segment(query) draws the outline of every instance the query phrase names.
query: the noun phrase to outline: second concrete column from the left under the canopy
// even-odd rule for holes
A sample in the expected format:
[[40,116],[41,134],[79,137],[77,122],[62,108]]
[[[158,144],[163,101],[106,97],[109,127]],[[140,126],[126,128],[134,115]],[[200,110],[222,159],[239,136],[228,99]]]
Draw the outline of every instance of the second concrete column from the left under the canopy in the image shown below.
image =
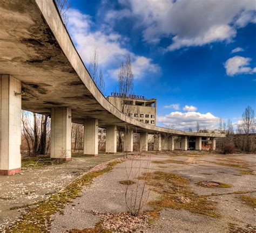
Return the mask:
[[51,158],[71,160],[71,109],[51,109]]

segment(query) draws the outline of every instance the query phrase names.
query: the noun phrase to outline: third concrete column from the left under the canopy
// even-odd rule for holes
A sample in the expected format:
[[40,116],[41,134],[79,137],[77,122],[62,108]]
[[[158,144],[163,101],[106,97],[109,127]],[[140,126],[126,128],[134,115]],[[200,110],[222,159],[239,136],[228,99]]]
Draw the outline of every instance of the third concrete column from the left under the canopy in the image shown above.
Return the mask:
[[84,154],[98,156],[98,119],[84,121]]

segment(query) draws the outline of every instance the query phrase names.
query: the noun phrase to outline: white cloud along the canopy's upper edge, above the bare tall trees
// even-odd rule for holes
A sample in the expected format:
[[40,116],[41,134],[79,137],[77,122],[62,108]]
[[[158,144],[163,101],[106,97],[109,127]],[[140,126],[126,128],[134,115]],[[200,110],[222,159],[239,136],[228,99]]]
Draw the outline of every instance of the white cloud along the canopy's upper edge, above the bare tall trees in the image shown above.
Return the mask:
[[[140,78],[149,73],[159,71],[159,66],[152,59],[139,56],[125,48],[124,43],[128,39],[116,32],[104,30],[92,30],[91,17],[78,10],[70,9],[67,13],[69,18],[68,29],[75,41],[77,50],[82,59],[89,63],[94,48],[98,51],[99,65],[104,68],[119,67],[121,61],[125,61],[130,55],[133,65],[134,78]],[[118,69],[117,69],[118,70]],[[115,75],[117,70],[109,70],[109,74]]]

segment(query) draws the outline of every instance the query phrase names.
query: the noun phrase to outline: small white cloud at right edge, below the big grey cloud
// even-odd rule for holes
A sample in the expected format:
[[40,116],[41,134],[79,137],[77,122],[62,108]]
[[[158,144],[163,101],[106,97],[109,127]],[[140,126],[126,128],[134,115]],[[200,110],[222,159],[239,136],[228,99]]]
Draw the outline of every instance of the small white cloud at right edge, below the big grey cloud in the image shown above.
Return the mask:
[[228,59],[224,63],[226,68],[226,73],[229,76],[234,76],[236,74],[252,74],[256,73],[256,67],[251,68],[250,65],[251,58],[245,58],[241,56],[235,56]]

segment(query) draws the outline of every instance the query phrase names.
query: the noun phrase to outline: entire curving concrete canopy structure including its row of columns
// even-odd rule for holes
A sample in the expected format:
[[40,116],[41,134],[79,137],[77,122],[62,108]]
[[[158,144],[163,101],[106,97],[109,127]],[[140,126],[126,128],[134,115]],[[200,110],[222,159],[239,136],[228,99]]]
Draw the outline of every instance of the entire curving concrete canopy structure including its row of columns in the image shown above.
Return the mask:
[[[100,93],[66,30],[53,0],[0,2],[0,174],[21,169],[21,109],[51,115],[51,158],[71,159],[71,122],[84,124],[84,154],[98,154],[98,126],[106,128],[106,152],[116,152],[116,130],[125,129],[125,145],[132,151],[132,133],[174,136],[224,135],[186,132],[148,125],[116,109]],[[21,95],[24,91],[24,95]],[[127,130],[128,129],[128,130]],[[164,137],[163,137],[164,138]],[[157,150],[161,150],[161,139]],[[147,150],[147,146],[143,147]],[[214,146],[213,146],[214,149]]]

